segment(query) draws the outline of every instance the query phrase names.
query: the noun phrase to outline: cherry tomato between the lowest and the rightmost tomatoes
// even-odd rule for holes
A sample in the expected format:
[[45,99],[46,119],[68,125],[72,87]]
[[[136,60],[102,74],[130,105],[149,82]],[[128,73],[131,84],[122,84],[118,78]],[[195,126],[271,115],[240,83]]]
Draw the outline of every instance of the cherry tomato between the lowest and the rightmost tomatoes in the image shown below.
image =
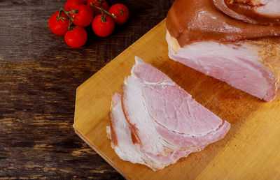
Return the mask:
[[97,15],[92,22],[92,30],[97,36],[106,37],[113,33],[115,23],[109,15]]

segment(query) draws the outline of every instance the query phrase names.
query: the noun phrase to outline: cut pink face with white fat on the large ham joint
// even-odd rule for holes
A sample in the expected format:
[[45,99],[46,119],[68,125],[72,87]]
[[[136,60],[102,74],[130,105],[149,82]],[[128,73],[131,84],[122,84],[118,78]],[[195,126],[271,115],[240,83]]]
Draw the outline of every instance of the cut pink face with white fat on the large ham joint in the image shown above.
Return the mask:
[[167,31],[169,57],[174,61],[227,82],[260,99],[273,100],[276,93],[274,74],[258,57],[258,50],[246,43],[197,42],[184,47],[174,45]]

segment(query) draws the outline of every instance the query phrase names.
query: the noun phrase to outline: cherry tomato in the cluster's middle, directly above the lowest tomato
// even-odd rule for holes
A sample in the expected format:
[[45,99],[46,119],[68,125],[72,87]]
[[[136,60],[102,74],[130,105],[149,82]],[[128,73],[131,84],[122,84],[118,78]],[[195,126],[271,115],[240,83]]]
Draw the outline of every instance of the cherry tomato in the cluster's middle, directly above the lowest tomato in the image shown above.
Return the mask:
[[79,27],[87,27],[92,24],[94,16],[92,8],[82,4],[76,7],[75,10],[78,10],[78,13],[71,14],[71,17],[73,18],[73,24]]

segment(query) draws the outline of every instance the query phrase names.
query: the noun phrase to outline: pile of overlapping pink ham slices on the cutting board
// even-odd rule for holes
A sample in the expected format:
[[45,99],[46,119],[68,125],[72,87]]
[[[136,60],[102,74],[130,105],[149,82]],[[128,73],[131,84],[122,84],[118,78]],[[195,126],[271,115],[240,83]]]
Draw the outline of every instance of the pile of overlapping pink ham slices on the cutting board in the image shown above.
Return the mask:
[[107,133],[118,156],[160,170],[221,140],[230,123],[197,103],[167,75],[136,57]]

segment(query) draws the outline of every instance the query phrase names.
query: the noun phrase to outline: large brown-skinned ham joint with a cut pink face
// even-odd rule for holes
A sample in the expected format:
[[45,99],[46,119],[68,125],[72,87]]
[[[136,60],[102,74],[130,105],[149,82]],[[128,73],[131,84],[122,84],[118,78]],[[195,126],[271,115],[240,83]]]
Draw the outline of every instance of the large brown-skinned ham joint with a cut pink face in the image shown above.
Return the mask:
[[169,57],[270,101],[280,87],[279,22],[279,0],[176,0]]

